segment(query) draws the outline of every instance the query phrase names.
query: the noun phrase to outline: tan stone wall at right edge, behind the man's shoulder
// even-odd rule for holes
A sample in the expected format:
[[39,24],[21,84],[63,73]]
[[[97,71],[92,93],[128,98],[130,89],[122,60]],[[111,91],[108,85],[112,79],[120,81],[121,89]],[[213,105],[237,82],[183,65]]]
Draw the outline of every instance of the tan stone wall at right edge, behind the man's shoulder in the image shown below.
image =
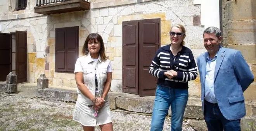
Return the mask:
[[254,83],[244,92],[256,100],[256,0],[222,1],[223,45],[242,52],[254,74]]

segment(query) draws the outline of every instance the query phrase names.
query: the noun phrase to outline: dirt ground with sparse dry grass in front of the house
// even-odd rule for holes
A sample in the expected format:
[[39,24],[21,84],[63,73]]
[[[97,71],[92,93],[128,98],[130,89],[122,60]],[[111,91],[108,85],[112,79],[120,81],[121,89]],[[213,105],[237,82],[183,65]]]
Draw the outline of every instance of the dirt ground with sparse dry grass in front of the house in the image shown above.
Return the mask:
[[[0,131],[81,131],[73,121],[74,104],[0,92]],[[151,116],[112,110],[114,131],[149,131]],[[194,131],[184,121],[183,131]],[[95,131],[100,131],[99,127]],[[166,118],[163,131],[170,131]]]

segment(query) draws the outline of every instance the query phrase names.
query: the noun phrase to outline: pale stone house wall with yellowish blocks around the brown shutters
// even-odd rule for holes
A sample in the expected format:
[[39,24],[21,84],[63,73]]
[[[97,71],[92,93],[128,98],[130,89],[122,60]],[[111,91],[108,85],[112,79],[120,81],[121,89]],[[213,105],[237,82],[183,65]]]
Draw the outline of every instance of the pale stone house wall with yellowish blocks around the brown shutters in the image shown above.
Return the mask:
[[[168,32],[171,25],[185,25],[187,30],[185,46],[192,50],[195,59],[206,51],[202,40],[204,27],[200,24],[200,5],[194,5],[193,0],[144,1],[149,2],[137,3],[136,0],[130,4],[103,8],[96,8],[97,6],[94,4],[93,8],[88,11],[54,15],[33,13],[33,9],[30,7],[33,7],[35,3],[31,2],[26,10],[16,15],[16,18],[19,16],[19,19],[11,20],[9,19],[10,12],[4,13],[0,24],[3,27],[2,32],[5,33],[15,30],[27,30],[28,32],[28,82],[34,83],[40,74],[45,74],[49,78],[49,84],[57,86],[76,87],[76,83],[74,74],[55,72],[55,29],[80,27],[80,56],[86,36],[93,32],[99,33],[103,37],[107,56],[112,61],[111,90],[121,92],[123,21],[161,18],[161,46],[170,44]],[[27,12],[29,13],[27,14]],[[28,17],[21,17],[25,16],[24,14]],[[190,96],[199,97],[201,91],[199,77],[189,84]]]

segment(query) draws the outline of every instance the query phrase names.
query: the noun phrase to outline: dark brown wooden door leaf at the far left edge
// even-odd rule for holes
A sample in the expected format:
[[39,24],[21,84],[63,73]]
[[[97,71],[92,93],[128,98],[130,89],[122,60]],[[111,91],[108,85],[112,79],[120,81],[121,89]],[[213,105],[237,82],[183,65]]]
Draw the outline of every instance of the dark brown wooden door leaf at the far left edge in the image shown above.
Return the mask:
[[12,35],[0,33],[0,81],[6,81],[6,76],[12,72]]

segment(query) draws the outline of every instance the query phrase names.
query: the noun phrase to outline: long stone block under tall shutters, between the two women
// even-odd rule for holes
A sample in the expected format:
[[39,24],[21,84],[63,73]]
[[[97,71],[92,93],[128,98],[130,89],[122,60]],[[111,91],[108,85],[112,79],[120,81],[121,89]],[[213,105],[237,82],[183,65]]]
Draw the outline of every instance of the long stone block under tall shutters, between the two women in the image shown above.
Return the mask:
[[116,98],[116,106],[137,113],[152,113],[155,96],[140,97],[134,94],[120,93]]

